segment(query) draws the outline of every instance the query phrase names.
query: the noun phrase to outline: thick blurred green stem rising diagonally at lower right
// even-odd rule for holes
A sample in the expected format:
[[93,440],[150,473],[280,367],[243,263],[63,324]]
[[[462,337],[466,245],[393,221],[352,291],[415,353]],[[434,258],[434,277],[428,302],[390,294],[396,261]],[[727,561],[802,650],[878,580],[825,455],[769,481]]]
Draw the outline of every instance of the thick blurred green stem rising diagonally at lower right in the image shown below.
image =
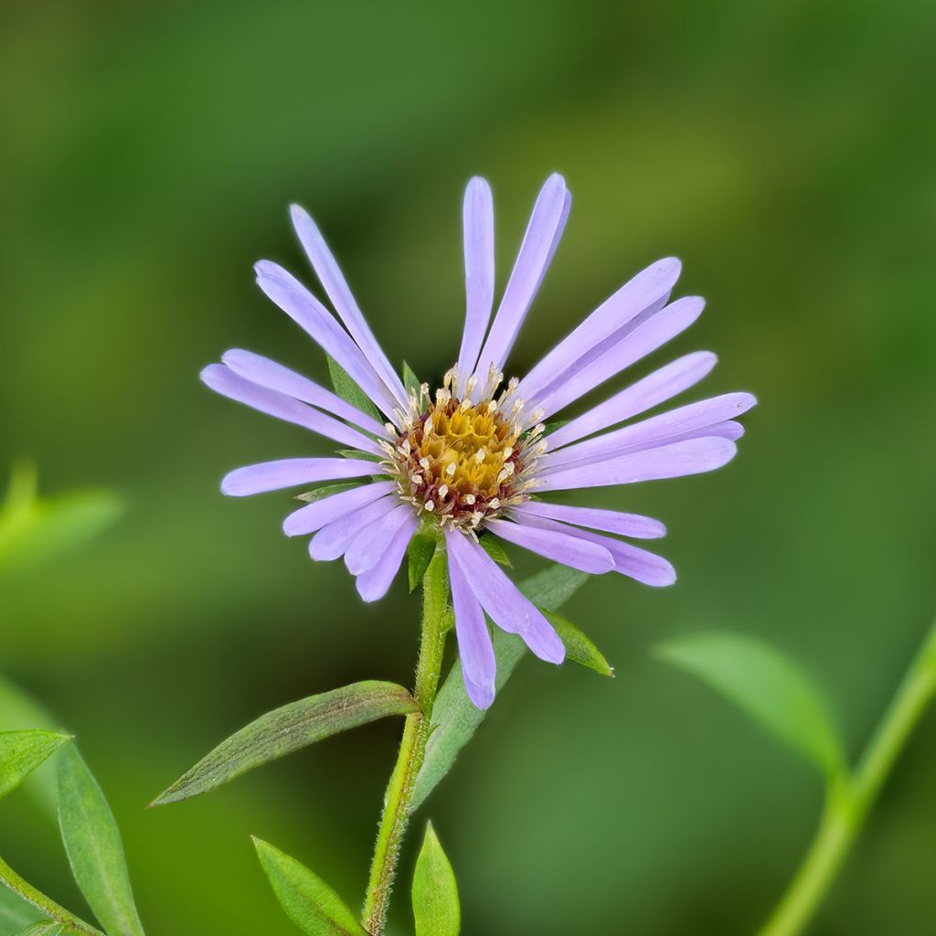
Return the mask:
[[854,774],[830,784],[822,821],[810,850],[758,936],[797,936],[808,926],[933,695],[936,695],[936,624],[900,683]]

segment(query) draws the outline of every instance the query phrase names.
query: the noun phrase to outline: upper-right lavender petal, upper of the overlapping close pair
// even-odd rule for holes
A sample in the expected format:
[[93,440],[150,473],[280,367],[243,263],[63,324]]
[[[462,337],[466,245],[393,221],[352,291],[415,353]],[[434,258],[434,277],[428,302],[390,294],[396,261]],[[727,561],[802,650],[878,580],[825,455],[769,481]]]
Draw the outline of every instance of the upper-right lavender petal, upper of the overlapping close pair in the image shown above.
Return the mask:
[[[613,335],[655,303],[668,298],[680,278],[681,264],[676,257],[657,260],[602,302],[579,326],[566,335],[548,355],[540,360],[519,384],[519,399],[534,400],[558,374],[574,367],[578,359]],[[662,306],[661,306],[662,308]]]

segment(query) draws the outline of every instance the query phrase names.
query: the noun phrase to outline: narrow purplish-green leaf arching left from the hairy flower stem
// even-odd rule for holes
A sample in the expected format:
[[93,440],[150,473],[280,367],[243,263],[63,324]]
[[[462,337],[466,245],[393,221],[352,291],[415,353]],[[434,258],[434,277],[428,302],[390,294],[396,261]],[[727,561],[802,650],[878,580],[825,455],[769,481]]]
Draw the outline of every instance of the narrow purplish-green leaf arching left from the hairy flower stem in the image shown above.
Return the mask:
[[378,718],[417,710],[413,696],[394,682],[355,682],[343,689],[312,695],[261,715],[241,728],[174,782],[153,805],[197,797],[315,741]]

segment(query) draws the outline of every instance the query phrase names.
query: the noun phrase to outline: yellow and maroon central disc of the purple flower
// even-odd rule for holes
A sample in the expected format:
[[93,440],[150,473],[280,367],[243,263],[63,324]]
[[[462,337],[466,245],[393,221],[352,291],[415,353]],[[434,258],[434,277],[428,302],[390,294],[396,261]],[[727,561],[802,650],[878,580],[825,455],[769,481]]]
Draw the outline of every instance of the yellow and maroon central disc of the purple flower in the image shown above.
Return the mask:
[[[495,378],[499,381],[500,374],[491,373],[491,385]],[[452,393],[458,383],[452,371],[433,396],[428,388],[420,393],[424,412],[411,401],[394,451],[403,499],[440,523],[471,530],[525,499],[528,447],[520,436],[522,403],[512,403],[505,414],[492,399],[496,385],[489,385],[490,393],[479,402],[459,400]]]

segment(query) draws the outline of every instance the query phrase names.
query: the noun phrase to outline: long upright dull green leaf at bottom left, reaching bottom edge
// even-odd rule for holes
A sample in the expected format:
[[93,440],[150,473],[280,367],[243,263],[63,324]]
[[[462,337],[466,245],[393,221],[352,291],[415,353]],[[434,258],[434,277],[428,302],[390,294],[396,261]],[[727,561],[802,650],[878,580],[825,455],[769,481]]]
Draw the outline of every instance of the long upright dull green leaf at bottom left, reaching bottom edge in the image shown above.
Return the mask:
[[81,893],[109,936],[143,936],[120,830],[74,745],[59,755],[58,775],[62,841]]

